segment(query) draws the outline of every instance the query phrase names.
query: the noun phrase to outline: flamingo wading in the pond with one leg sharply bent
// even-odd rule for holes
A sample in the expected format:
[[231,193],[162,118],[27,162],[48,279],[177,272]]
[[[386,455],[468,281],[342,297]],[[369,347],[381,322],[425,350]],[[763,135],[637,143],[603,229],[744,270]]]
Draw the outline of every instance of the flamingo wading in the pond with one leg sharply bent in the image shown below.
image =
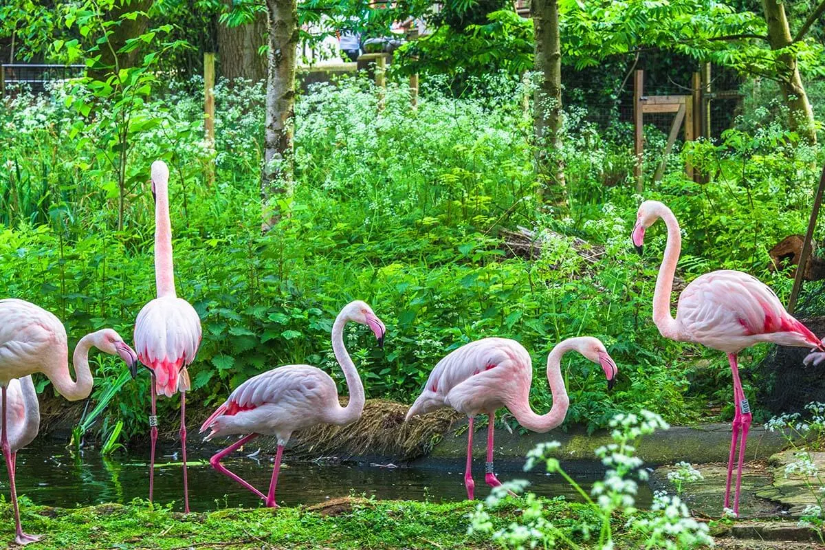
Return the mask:
[[[350,400],[347,407],[338,403],[335,382],[323,370],[309,364],[288,364],[257,374],[235,388],[229,399],[200,426],[200,433],[211,430],[205,441],[219,435],[247,434],[210,458],[212,468],[260,496],[269,508],[277,508],[275,490],[284,445],[295,430],[317,424],[347,425],[361,418],[364,411],[364,385],[344,347],[343,333],[347,322],[366,325],[384,346],[384,323],[372,308],[361,300],[348,303],[332,325],[332,351],[344,371]],[[220,461],[258,435],[274,435],[278,440],[275,468],[266,496]]]

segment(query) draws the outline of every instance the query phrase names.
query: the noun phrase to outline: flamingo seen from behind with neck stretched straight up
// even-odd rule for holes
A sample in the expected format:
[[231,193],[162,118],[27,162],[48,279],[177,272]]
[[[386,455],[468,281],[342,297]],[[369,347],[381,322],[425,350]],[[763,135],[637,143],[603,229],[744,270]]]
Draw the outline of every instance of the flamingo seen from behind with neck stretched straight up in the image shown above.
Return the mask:
[[[155,197],[155,284],[158,298],[147,303],[134,322],[134,346],[138,358],[152,373],[152,416],[149,416],[149,501],[154,487],[154,456],[158,441],[157,395],[172,397],[181,392],[181,458],[183,459],[183,503],[189,513],[189,484],[186,479],[186,392],[191,388],[189,366],[200,346],[200,317],[186,300],[175,294],[172,268],[172,223],[169,221],[169,169],[163,161],[152,163],[152,193]],[[137,366],[132,376],[137,374]]]

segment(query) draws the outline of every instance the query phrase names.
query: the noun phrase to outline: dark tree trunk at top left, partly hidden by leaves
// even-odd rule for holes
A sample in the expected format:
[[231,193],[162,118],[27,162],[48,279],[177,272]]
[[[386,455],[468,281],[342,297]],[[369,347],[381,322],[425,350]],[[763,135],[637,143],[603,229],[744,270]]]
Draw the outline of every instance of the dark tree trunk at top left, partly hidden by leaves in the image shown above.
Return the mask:
[[[149,18],[145,15],[152,7],[152,0],[120,0],[115,2],[112,9],[106,13],[106,19],[110,21],[120,21],[119,25],[110,27],[109,44],[100,45],[101,59],[95,66],[88,70],[88,75],[95,80],[106,80],[106,78],[121,68],[134,67],[139,59],[143,59],[146,52],[142,48],[135,48],[125,54],[118,54],[118,50],[126,45],[126,40],[137,38],[144,34],[149,24]],[[126,17],[121,19],[125,13],[139,12],[134,19]]]

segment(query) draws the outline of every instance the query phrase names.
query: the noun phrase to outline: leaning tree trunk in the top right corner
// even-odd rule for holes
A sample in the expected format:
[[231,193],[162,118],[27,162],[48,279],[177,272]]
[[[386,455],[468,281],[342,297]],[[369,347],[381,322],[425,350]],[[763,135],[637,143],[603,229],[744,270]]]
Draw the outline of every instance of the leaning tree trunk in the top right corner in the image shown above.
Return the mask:
[[[782,49],[792,44],[788,18],[785,16],[785,5],[777,0],[762,0],[765,9],[765,21],[768,26],[768,40],[771,49]],[[780,78],[780,88],[785,96],[785,104],[790,110],[788,125],[809,143],[817,143],[817,133],[814,126],[813,110],[808,103],[808,94],[802,78],[799,76],[799,65],[796,54],[785,52],[776,58],[776,73]]]

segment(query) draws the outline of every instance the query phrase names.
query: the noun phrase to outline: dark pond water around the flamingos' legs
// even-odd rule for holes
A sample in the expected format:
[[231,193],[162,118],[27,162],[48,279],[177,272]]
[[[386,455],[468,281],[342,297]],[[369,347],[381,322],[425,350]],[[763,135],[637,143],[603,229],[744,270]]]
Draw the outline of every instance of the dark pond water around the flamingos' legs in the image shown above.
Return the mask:
[[[271,479],[272,457],[265,454],[247,456],[257,449],[257,446],[249,446],[224,464],[266,493]],[[175,501],[174,508],[182,510],[181,465],[174,450],[158,449],[155,501]],[[257,506],[256,496],[210,467],[209,456],[205,450],[193,449],[189,453],[191,509],[206,511],[226,506]],[[603,477],[603,472],[592,463],[569,463],[565,468],[588,491],[592,482]],[[0,488],[6,494],[6,472],[5,468],[0,469],[3,470]],[[563,495],[571,500],[578,499],[561,477],[522,472],[521,463],[496,463],[496,471],[502,481],[527,479],[531,490],[541,496]],[[476,498],[489,493],[483,472],[483,457],[479,456],[474,461]],[[68,508],[103,502],[125,504],[136,497],[148,497],[148,450],[145,454],[121,452],[104,458],[94,449],[72,454],[63,444],[35,443],[17,455],[16,481],[18,494],[28,496],[38,505]],[[295,461],[290,460],[288,451],[285,453],[276,493],[279,504],[310,505],[337,496],[361,494],[375,495],[379,499],[462,501],[466,498],[464,461],[386,468],[370,462]],[[638,501],[643,506],[650,503],[651,493],[647,486],[640,487]]]

